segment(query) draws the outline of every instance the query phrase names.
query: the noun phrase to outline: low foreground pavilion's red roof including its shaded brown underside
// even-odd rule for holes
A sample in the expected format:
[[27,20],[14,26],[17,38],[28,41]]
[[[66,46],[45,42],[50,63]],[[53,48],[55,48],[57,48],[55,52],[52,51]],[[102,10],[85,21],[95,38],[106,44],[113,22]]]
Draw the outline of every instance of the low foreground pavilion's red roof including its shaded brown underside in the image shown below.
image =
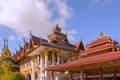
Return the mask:
[[83,70],[88,73],[89,73],[89,71],[92,71],[92,72],[94,71],[93,72],[93,74],[94,74],[100,70],[100,67],[108,68],[109,72],[104,71],[104,73],[113,72],[113,70],[111,70],[111,69],[114,69],[117,67],[119,69],[119,67],[120,67],[120,51],[109,52],[109,53],[105,53],[105,54],[101,54],[101,55],[81,58],[81,59],[78,59],[75,61],[48,67],[45,70],[61,71],[61,72],[64,72],[64,71],[80,72],[81,70]]

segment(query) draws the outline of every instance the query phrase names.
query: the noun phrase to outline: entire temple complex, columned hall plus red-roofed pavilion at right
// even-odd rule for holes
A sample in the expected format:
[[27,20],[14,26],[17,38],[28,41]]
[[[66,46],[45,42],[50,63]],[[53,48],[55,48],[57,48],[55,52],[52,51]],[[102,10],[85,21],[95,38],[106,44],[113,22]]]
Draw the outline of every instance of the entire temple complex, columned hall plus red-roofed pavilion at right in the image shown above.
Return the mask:
[[[82,39],[71,44],[56,24],[47,38],[30,32],[29,41],[24,40],[23,47],[19,46],[14,54],[14,63],[27,80],[120,79],[120,45],[108,35],[100,33],[86,46]],[[10,53],[2,52],[6,55]]]

